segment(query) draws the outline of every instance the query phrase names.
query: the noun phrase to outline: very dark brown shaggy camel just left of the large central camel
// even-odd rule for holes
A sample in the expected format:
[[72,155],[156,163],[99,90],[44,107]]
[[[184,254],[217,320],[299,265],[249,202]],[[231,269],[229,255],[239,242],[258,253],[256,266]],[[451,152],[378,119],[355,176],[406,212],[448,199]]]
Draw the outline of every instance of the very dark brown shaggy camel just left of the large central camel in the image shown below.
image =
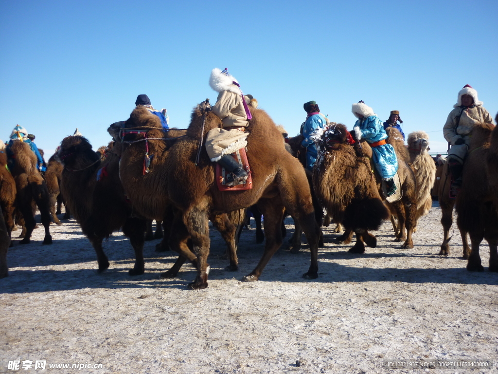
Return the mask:
[[119,178],[119,157],[111,152],[101,162],[102,156],[94,152],[92,145],[82,136],[64,138],[57,157],[64,166],[61,192],[95,249],[99,272],[109,267],[102,240],[123,229],[135,251],[135,264],[128,273],[143,274],[145,219],[131,216],[132,207],[126,201]]

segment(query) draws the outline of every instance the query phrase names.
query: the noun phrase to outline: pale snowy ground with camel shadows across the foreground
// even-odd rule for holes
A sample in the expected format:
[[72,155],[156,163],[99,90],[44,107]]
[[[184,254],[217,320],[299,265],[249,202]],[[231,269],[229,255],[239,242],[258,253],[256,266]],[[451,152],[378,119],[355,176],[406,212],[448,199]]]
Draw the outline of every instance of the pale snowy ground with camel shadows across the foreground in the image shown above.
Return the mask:
[[[237,272],[224,270],[225,244],[212,231],[209,287],[201,291],[186,289],[195,278],[191,266],[173,280],[159,279],[176,257],[154,252],[157,240],[145,243],[146,273],[130,277],[133,250],[116,234],[105,244],[111,266],[98,274],[95,252],[74,220],[51,225],[53,245],[41,244],[38,228],[31,244],[9,249],[9,277],[0,280],[0,373],[449,374],[469,369],[383,365],[467,359],[496,365],[498,274],[487,271],[487,243],[486,271],[468,272],[457,230],[451,256],[438,256],[440,218],[435,202],[411,250],[399,249],[386,222],[375,232],[377,247],[362,255],[331,244],[333,225],[324,228],[319,278],[312,281],[301,278],[310,261],[305,246],[298,254],[280,249],[258,282],[243,283],[263,251],[254,228],[242,233]],[[286,223],[290,234],[292,221]],[[14,360],[19,371],[8,369]],[[23,370],[26,361],[33,367]],[[35,370],[35,361],[46,361],[46,369]],[[89,369],[94,364],[102,368]]]

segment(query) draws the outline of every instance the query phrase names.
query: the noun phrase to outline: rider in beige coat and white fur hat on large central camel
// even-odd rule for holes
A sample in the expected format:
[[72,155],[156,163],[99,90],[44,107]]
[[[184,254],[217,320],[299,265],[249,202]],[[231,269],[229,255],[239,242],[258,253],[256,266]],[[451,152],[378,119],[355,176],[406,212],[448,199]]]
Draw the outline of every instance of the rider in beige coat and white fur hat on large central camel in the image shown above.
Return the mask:
[[223,129],[215,128],[206,136],[206,151],[211,161],[219,163],[230,174],[227,183],[243,184],[248,178],[247,172],[230,156],[247,146],[245,132],[252,118],[239,82],[229,74],[228,69],[214,68],[211,71],[209,85],[219,93],[216,104],[211,107],[213,113],[221,118]]

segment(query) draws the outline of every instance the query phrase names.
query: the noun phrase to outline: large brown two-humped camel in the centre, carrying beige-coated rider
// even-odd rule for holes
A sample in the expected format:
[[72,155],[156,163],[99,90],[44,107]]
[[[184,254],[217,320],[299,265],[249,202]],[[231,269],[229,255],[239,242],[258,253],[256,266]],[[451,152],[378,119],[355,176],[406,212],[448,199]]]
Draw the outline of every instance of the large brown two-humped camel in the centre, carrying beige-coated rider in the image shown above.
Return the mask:
[[[150,162],[150,173],[143,173],[146,155],[144,142],[130,144],[124,149],[120,176],[133,205],[139,211],[148,212],[148,218],[160,218],[162,212],[157,209],[158,206],[172,204],[177,209],[172,232],[178,237],[190,237],[192,240],[197,277],[189,285],[190,289],[204,289],[208,286],[208,217],[213,213],[244,209],[255,203],[265,219],[265,252],[258,265],[244,280],[258,280],[264,266],[282,244],[280,226],[284,208],[300,221],[310,243],[311,266],[304,277],[318,277],[320,228],[314,220],[311,193],[305,182],[304,170],[298,160],[285,150],[282,135],[266,112],[261,109],[251,109],[251,112],[252,119],[247,128],[247,156],[253,180],[252,188],[248,190],[218,190],[215,164],[209,160],[201,141],[209,130],[222,128],[223,124],[210,111],[208,101],[194,109],[187,135],[178,139],[171,148],[166,150],[164,142],[148,141],[148,153],[154,154]],[[124,130],[149,129],[147,138],[162,137],[160,123],[155,118],[145,108],[138,106],[125,122]],[[130,142],[145,140],[141,134],[128,136]],[[124,138],[127,139],[126,136]],[[185,231],[181,232],[180,227],[185,227]],[[235,232],[231,240],[235,242]],[[179,240],[178,243],[182,241]],[[189,258],[191,255],[186,245],[172,249],[180,253],[180,258]]]

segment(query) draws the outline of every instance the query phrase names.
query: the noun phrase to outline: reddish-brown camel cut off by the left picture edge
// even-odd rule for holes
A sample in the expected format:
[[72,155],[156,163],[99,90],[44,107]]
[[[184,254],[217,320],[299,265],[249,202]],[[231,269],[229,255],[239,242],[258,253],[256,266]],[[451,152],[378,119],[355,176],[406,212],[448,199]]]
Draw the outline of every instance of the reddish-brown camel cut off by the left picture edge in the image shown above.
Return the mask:
[[0,206],[9,238],[14,228],[15,194],[15,181],[7,169],[5,144],[0,140]]

